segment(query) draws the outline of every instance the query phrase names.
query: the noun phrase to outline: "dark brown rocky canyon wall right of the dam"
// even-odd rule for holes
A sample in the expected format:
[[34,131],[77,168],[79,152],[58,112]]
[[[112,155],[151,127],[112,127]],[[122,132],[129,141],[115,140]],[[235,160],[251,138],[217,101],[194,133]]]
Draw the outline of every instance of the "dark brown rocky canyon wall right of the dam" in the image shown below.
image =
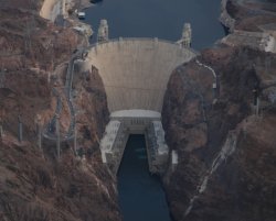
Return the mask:
[[220,45],[172,74],[162,118],[179,154],[164,176],[176,220],[275,220],[275,54]]

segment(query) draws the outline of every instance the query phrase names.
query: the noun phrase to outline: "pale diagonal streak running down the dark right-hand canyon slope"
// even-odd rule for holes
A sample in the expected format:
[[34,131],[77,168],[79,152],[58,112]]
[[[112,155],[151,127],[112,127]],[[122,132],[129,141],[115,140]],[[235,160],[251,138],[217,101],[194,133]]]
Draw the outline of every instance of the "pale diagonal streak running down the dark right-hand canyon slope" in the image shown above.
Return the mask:
[[198,199],[199,196],[205,191],[208,183],[209,183],[209,178],[211,177],[211,175],[221,166],[221,164],[223,162],[226,162],[229,156],[231,156],[235,152],[236,141],[237,141],[236,133],[234,131],[230,131],[227,139],[226,139],[224,145],[222,146],[221,152],[213,159],[211,169],[206,172],[201,185],[198,187],[198,192],[191,198],[189,207],[184,212],[184,217],[187,217],[190,213],[190,211],[192,210],[194,200]]

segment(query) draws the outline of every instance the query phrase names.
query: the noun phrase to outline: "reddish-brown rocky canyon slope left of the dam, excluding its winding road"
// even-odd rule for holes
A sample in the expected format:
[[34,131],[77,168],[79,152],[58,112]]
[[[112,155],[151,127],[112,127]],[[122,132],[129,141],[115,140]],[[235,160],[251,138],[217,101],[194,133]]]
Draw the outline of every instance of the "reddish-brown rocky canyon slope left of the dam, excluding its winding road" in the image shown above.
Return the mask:
[[[33,1],[31,1],[33,2]],[[67,130],[64,97],[66,62],[82,36],[40,19],[24,4],[0,11],[0,220],[120,220],[114,178],[102,165],[98,140],[108,120],[106,96],[97,70],[77,70],[73,81],[77,156],[73,140],[43,139],[38,146],[38,115],[43,133],[61,92],[61,128]],[[13,8],[11,8],[13,5]],[[36,4],[35,4],[36,5]],[[33,11],[34,10],[34,11]],[[13,14],[17,14],[15,18]],[[63,93],[62,93],[63,92]],[[23,141],[18,141],[18,117]]]

